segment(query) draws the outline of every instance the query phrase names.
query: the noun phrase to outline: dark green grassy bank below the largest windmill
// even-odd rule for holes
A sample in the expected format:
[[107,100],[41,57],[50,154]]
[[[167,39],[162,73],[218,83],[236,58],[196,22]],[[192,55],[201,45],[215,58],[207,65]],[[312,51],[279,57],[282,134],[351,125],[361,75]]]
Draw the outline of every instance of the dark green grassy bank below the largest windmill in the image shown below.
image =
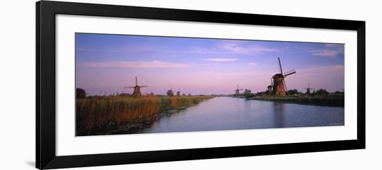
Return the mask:
[[283,103],[298,103],[304,105],[324,105],[344,107],[344,95],[303,95],[303,96],[255,96],[249,100],[276,101]]

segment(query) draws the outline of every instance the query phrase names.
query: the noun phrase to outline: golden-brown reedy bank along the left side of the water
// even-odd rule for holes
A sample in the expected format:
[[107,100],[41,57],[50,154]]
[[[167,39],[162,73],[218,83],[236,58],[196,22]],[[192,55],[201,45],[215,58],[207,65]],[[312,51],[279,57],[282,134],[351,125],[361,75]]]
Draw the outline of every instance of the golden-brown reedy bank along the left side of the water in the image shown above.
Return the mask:
[[122,124],[155,119],[160,113],[178,110],[210,96],[88,96],[76,99],[76,135],[105,133],[108,128]]

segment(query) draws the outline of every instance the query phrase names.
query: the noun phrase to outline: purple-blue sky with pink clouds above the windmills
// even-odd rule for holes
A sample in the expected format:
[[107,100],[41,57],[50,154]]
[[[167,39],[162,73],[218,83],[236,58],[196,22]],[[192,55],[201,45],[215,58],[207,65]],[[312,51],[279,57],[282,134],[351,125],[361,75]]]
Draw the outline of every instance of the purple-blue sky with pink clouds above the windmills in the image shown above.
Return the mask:
[[194,37],[76,33],[76,87],[89,95],[133,93],[126,86],[147,85],[143,94],[233,94],[236,85],[265,91],[278,74],[287,90],[344,89],[344,44],[227,40]]

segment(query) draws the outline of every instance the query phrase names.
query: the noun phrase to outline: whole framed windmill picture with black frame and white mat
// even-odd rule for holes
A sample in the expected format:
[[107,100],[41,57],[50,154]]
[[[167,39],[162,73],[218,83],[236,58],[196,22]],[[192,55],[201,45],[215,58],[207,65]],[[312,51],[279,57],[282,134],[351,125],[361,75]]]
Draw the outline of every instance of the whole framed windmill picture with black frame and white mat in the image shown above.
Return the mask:
[[365,148],[365,22],[36,3],[36,167]]

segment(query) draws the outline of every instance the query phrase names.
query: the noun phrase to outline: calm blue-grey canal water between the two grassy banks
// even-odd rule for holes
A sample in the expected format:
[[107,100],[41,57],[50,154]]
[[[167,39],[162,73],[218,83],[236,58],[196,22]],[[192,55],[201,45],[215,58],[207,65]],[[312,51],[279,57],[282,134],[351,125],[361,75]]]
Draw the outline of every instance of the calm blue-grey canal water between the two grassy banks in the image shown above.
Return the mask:
[[344,125],[344,108],[217,97],[154,121],[137,133]]

